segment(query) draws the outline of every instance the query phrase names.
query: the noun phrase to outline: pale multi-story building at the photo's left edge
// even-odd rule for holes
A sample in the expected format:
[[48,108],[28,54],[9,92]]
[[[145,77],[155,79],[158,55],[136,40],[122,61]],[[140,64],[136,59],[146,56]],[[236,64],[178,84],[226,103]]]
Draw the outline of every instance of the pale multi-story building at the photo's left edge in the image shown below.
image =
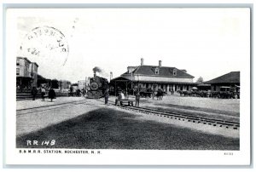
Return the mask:
[[37,87],[38,64],[31,62],[26,57],[16,59],[16,87],[20,89],[30,89]]

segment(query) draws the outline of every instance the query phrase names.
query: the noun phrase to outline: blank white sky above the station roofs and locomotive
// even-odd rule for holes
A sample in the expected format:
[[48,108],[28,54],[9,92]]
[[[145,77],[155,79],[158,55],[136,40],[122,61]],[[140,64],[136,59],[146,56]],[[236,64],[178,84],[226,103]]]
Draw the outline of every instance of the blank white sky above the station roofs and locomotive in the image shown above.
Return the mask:
[[[95,66],[102,77],[119,77],[141,58],[144,65],[162,60],[162,66],[187,70],[194,82],[207,81],[241,71],[249,61],[249,14],[235,8],[20,9],[17,56],[37,62],[43,77],[72,83],[93,76]],[[55,28],[55,35],[45,28]]]

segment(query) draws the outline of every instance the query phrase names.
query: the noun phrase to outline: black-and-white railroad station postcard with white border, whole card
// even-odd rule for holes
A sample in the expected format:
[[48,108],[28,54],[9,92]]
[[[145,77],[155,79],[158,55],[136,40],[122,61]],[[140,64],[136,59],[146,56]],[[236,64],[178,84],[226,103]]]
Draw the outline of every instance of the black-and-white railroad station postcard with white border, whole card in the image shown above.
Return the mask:
[[7,9],[6,164],[249,165],[251,9]]

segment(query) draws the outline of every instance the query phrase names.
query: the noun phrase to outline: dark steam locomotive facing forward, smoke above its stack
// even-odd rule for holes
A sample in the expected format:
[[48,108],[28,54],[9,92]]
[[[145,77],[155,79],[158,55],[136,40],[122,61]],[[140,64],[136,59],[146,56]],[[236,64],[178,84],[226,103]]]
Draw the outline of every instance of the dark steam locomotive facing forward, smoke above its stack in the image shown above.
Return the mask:
[[108,79],[104,77],[98,77],[96,74],[94,74],[94,77],[90,78],[90,89],[87,91],[87,98],[102,98],[106,89],[108,89]]

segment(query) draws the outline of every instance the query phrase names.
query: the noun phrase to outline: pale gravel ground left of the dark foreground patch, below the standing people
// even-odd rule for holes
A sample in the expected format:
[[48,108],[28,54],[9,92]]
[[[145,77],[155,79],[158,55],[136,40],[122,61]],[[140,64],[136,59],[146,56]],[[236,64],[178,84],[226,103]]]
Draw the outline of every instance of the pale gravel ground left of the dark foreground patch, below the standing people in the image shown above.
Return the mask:
[[[55,101],[53,104],[50,105],[57,105],[60,102],[70,102],[71,100],[77,101],[78,99],[63,99],[59,102]],[[90,101],[87,101],[87,103],[90,103]],[[46,107],[17,112],[16,135],[26,135],[38,129],[44,129],[45,127],[56,123],[61,123],[71,118],[77,118],[84,112],[90,112],[98,108],[98,106],[88,106],[85,104],[71,106],[65,105],[66,107],[47,106],[48,102],[45,103],[41,102],[40,100],[38,100],[38,102],[27,101],[27,104],[25,104],[25,101],[22,101],[22,104],[26,105],[23,107],[33,107],[38,106],[38,104],[40,104],[41,106],[44,105]]]

